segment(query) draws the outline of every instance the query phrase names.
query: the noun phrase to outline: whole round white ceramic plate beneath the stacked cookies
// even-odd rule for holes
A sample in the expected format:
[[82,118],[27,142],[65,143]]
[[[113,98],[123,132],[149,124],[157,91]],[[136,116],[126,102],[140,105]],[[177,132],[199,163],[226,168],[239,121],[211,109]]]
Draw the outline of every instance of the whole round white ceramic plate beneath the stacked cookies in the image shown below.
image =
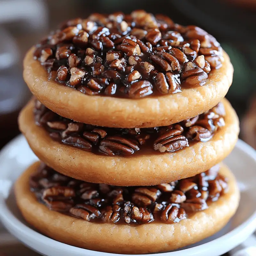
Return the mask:
[[[0,219],[12,235],[33,250],[47,256],[114,256],[57,242],[43,236],[23,220],[17,209],[12,184],[29,164],[37,160],[23,136],[12,140],[0,153]],[[236,215],[220,232],[203,241],[161,256],[219,256],[230,251],[256,229],[256,152],[243,141],[224,161],[236,175],[241,202]]]

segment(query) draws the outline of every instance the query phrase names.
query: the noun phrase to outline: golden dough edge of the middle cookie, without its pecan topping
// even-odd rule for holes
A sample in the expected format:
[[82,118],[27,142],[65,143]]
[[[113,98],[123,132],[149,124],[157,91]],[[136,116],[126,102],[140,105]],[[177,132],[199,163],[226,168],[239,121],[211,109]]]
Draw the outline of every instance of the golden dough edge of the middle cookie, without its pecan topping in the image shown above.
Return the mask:
[[226,125],[211,140],[172,153],[100,156],[63,145],[35,124],[33,101],[21,111],[19,125],[34,153],[57,172],[93,183],[149,186],[194,176],[228,156],[236,144],[239,122],[228,100],[222,102],[227,113]]

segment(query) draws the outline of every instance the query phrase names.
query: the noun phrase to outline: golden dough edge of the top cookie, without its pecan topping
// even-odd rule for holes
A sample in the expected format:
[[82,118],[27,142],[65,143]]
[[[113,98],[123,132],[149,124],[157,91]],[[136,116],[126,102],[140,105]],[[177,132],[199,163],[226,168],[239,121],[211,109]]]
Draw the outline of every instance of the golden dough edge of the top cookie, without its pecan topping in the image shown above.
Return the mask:
[[143,99],[90,96],[48,80],[47,71],[34,60],[33,51],[31,48],[24,59],[23,77],[36,98],[60,116],[106,127],[165,126],[197,116],[225,97],[233,78],[233,66],[223,51],[222,67],[209,73],[204,86]]

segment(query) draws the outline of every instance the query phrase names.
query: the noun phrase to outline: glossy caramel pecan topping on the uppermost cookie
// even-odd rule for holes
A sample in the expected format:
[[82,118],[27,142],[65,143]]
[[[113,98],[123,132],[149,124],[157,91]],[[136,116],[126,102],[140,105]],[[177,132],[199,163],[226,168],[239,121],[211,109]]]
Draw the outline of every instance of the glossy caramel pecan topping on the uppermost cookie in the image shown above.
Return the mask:
[[222,66],[216,39],[142,10],[69,20],[36,45],[49,78],[88,95],[141,98],[206,83]]

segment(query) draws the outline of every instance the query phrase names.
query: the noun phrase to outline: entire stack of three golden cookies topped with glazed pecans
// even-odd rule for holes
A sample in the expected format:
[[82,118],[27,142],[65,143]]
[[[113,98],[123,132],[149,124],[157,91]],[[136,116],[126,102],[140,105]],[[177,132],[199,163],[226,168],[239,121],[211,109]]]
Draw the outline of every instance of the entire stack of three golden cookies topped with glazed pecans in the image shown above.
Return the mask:
[[221,161],[239,122],[216,39],[145,11],[70,20],[28,51],[20,130],[42,161],[16,183],[24,218],[102,252],[174,250],[226,225],[239,202]]

